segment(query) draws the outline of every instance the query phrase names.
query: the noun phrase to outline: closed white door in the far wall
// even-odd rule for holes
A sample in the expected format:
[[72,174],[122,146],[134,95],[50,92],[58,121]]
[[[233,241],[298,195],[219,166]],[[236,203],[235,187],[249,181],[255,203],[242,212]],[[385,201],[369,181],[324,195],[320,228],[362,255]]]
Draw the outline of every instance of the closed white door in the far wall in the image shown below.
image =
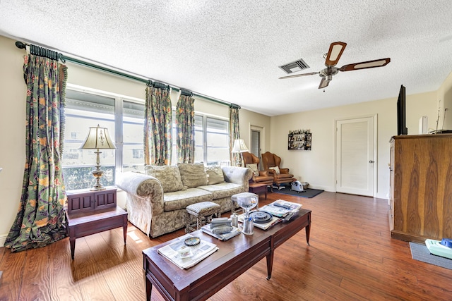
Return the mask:
[[374,196],[376,116],[336,121],[336,191]]

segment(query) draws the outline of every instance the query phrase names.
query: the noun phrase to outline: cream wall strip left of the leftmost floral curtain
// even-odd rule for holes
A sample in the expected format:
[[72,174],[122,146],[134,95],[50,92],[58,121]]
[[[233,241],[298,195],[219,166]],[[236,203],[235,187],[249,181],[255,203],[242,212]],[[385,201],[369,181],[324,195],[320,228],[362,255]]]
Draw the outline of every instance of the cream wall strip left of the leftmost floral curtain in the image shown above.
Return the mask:
[[0,247],[16,218],[25,166],[24,53],[14,42],[0,36]]

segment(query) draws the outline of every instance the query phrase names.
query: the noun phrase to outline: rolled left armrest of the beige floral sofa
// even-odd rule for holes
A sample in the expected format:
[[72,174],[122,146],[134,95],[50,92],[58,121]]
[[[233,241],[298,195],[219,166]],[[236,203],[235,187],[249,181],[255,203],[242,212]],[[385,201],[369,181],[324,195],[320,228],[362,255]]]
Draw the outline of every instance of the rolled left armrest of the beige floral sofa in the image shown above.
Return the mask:
[[157,178],[144,173],[127,171],[118,177],[117,186],[127,192],[132,198],[148,199],[152,207],[150,215],[162,214],[163,188]]

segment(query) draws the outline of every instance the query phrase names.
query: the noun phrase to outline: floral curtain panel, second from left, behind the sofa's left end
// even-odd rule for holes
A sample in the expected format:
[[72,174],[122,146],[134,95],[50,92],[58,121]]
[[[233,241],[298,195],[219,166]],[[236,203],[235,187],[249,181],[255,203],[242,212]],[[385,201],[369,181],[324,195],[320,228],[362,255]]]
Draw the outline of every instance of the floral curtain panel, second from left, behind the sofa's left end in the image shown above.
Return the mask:
[[146,87],[144,114],[145,164],[169,165],[172,147],[172,107],[169,91]]

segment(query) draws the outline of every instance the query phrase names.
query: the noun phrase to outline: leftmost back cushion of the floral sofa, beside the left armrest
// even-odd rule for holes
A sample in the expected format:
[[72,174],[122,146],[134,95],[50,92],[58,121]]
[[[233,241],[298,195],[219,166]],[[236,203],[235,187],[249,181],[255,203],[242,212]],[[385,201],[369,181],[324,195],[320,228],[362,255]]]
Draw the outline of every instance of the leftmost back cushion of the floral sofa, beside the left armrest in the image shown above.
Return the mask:
[[184,189],[181,174],[179,173],[179,168],[177,168],[177,166],[147,165],[144,170],[148,176],[153,176],[160,180],[163,192],[173,192]]

